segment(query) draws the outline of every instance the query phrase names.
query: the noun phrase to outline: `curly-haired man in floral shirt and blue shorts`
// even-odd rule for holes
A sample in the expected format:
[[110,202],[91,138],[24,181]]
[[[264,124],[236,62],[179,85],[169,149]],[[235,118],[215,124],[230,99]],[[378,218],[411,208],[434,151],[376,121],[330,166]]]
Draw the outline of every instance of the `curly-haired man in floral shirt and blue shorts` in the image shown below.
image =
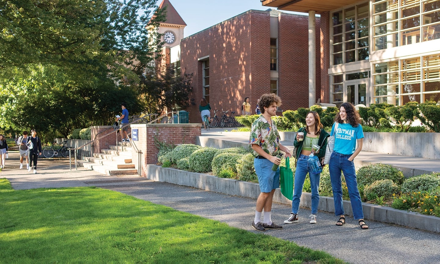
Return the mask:
[[[260,195],[257,199],[255,219],[252,227],[257,231],[266,229],[282,229],[271,220],[272,198],[276,188],[279,188],[279,168],[272,170],[274,164],[279,165],[278,158],[280,151],[286,152],[291,157],[289,149],[279,143],[279,133],[271,117],[276,116],[277,107],[281,105],[281,98],[276,94],[263,94],[260,98],[261,115],[252,124],[249,145],[253,150],[253,165],[260,184]],[[260,218],[264,210],[264,220]]]

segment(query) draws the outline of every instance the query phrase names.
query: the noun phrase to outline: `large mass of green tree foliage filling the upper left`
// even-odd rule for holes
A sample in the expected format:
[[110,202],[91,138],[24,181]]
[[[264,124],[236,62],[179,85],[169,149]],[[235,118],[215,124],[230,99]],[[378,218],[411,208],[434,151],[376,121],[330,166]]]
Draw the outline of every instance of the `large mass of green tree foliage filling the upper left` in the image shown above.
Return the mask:
[[1,1],[0,127],[66,137],[109,125],[122,102],[131,114],[145,110],[142,98],[165,102],[156,112],[185,105],[191,78],[146,74],[163,45],[154,29],[165,12],[156,0]]

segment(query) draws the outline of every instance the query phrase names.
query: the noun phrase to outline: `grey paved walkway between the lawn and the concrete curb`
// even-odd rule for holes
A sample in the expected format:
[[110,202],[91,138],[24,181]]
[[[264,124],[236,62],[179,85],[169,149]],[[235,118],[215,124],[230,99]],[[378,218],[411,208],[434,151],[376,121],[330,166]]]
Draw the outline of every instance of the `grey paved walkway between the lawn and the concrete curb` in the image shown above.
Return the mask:
[[[154,182],[138,176],[106,176],[84,168],[70,171],[67,159],[39,159],[37,171],[32,174],[26,169],[20,170],[18,152],[10,151],[0,177],[11,181],[16,190],[97,186],[257,232],[251,227],[256,199]],[[310,210],[304,208],[299,211],[299,223],[283,224],[289,213],[290,206],[274,204],[272,220],[284,228],[264,234],[324,250],[349,263],[440,263],[438,233],[374,221],[367,221],[368,230],[361,230],[352,217],[347,217],[347,223],[338,227],[337,217],[326,212],[318,213],[317,224],[309,224]]]

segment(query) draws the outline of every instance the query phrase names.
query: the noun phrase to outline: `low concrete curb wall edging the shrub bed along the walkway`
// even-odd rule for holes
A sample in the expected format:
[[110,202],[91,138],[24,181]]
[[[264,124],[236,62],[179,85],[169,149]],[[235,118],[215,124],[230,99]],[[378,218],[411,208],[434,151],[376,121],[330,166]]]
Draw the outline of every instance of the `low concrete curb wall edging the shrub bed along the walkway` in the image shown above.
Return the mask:
[[[173,168],[162,168],[157,165],[147,165],[146,175],[148,175],[148,179],[153,181],[168,182],[228,195],[257,199],[260,194],[260,187],[257,183],[219,178],[209,174],[201,174]],[[279,188],[275,190],[273,202],[287,205],[292,204],[292,201],[281,194]],[[353,216],[350,202],[343,201],[343,203],[345,215]],[[300,206],[310,209],[311,204],[311,194],[303,192]],[[370,203],[362,203],[362,206],[364,218],[367,220],[397,224],[409,228],[440,233],[440,217],[423,215]],[[333,198],[321,196],[319,199],[318,210],[334,213]]]

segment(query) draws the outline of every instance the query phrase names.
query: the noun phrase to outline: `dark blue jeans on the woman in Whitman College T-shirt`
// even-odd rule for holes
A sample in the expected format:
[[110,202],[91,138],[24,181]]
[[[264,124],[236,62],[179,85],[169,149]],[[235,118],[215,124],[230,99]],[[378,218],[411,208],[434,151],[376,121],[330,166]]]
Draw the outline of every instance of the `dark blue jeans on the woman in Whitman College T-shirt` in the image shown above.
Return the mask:
[[333,189],[334,214],[343,215],[341,171],[347,183],[348,195],[352,204],[353,218],[363,219],[362,201],[357,188],[355,165],[348,158],[352,156],[333,152],[330,157],[329,171],[331,187]]

